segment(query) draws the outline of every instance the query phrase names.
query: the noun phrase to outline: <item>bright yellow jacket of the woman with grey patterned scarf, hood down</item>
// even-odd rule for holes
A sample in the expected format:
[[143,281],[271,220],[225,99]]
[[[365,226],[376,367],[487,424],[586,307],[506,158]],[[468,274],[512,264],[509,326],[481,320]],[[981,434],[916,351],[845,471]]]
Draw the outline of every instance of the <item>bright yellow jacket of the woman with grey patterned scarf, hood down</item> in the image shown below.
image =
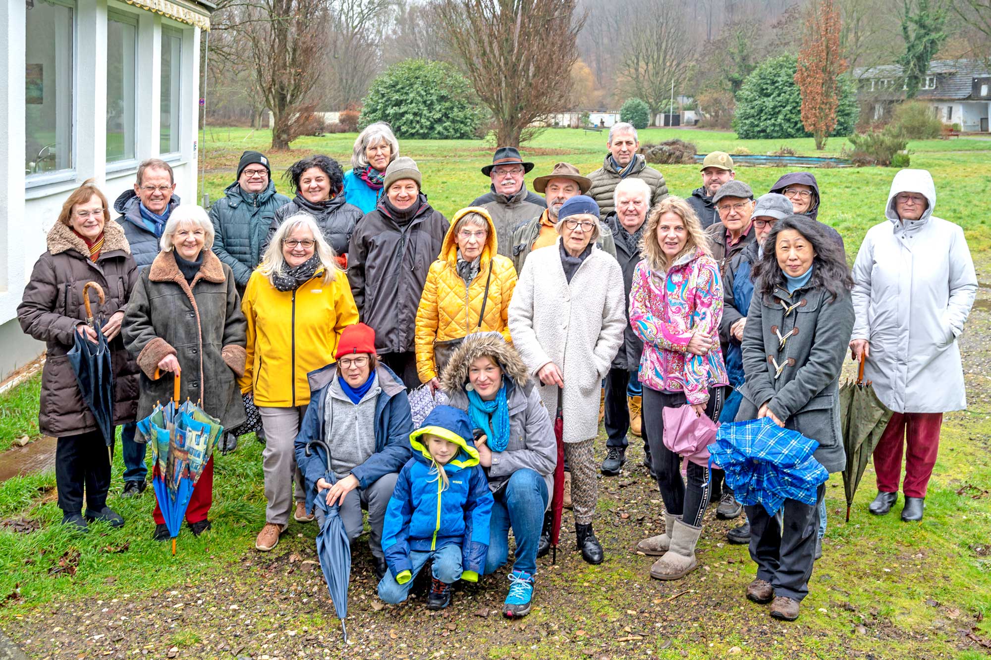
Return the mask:
[[255,271],[241,309],[248,360],[238,385],[255,392],[255,405],[275,408],[309,403],[306,374],[334,362],[341,331],[358,322],[347,275],[324,282],[322,270],[291,291],[279,291]]

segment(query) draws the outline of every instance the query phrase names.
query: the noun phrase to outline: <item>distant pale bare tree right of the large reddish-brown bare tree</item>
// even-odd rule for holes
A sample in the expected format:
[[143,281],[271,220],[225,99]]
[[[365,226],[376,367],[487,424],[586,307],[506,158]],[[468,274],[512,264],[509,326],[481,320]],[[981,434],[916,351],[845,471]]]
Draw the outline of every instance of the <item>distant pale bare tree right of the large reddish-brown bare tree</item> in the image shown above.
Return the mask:
[[627,26],[621,43],[619,79],[626,96],[637,96],[647,103],[653,124],[653,118],[667,105],[672,84],[674,94],[681,93],[695,49],[685,39],[685,15],[677,0],[636,0],[629,4],[638,18]]

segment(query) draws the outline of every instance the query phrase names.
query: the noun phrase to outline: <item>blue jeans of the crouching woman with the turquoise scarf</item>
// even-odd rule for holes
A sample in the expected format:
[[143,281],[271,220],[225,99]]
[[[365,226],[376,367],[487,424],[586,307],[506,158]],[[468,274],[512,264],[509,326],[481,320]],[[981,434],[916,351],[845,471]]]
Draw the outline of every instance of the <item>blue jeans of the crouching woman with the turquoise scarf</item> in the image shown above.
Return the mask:
[[509,559],[509,527],[516,537],[513,571],[537,571],[537,546],[544,526],[549,496],[547,483],[535,470],[520,468],[509,477],[493,502],[489,518],[489,555],[483,575],[490,575]]

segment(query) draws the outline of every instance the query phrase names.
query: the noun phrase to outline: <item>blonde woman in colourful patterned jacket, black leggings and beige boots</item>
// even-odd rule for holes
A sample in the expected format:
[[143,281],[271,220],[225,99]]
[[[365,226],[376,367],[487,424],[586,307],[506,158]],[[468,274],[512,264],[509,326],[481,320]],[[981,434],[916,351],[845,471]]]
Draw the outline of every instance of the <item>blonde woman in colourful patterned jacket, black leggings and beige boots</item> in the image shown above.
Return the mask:
[[709,504],[709,469],[688,464],[664,445],[665,407],[691,405],[718,419],[726,370],[719,351],[722,282],[709,240],[695,211],[681,197],[667,197],[647,219],[629,292],[629,319],[643,341],[643,429],[657,486],[664,499],[665,531],[637,545],[662,555],[650,568],[658,580],[678,580],[695,570],[695,546]]

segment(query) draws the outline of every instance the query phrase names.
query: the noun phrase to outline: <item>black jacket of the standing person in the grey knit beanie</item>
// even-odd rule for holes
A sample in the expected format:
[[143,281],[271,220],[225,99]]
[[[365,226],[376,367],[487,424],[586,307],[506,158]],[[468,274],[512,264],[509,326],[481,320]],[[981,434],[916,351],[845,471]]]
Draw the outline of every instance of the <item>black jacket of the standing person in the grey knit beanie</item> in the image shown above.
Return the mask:
[[393,213],[387,199],[380,199],[358,223],[348,250],[351,292],[362,322],[375,329],[380,354],[414,349],[423,284],[450,226],[423,194],[402,213],[404,218]]

